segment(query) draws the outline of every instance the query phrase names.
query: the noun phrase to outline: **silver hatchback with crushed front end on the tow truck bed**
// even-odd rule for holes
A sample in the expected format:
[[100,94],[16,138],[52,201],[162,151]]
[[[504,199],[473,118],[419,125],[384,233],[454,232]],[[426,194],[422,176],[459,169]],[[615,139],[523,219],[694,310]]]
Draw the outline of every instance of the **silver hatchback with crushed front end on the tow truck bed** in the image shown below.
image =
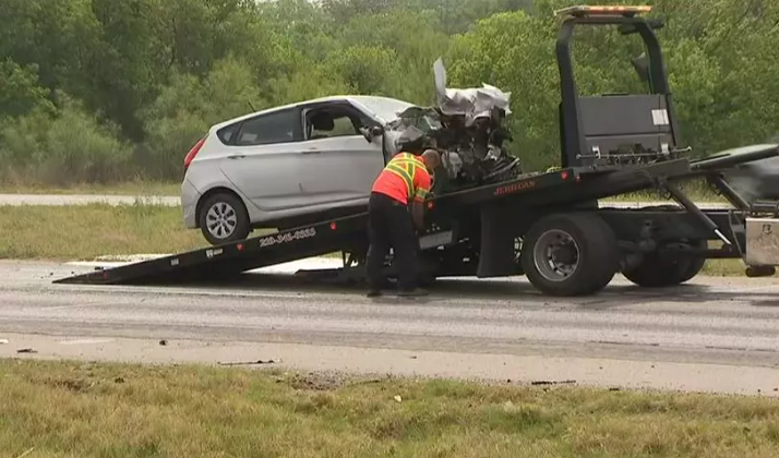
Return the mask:
[[184,224],[212,244],[253,229],[286,229],[364,210],[373,181],[409,142],[442,152],[435,193],[512,178],[504,128],[510,94],[447,89],[435,62],[436,107],[376,96],[332,96],[212,126],[184,157]]

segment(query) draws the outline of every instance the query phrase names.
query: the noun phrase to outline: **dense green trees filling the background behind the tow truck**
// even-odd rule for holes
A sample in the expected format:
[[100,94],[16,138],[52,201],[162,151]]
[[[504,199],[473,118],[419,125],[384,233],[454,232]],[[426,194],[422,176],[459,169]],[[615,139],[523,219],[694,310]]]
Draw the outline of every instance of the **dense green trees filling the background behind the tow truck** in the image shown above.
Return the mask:
[[[553,11],[570,0],[0,0],[0,180],[180,180],[209,125],[333,94],[434,104],[512,93],[511,148],[559,158]],[[599,3],[615,3],[603,1]],[[698,155],[779,132],[779,2],[655,0],[683,141]],[[635,36],[577,32],[583,93],[642,89]]]

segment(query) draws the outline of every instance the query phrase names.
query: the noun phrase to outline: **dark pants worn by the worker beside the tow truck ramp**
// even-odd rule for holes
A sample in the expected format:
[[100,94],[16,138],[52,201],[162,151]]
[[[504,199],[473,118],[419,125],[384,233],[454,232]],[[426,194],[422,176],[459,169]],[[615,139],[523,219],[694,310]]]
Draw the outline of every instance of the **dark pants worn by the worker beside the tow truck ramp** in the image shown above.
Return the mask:
[[398,289],[414,289],[419,243],[408,206],[384,194],[371,193],[368,203],[368,237],[371,245],[368,249],[367,274],[371,289],[379,290],[384,285],[382,267],[389,248],[394,253]]

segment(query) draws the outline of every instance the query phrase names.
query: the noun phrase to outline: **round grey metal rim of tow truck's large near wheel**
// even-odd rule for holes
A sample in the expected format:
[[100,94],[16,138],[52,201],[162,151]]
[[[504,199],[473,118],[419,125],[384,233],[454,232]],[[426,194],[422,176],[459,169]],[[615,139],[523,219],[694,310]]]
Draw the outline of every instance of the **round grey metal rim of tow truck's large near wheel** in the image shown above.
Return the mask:
[[536,269],[549,281],[568,279],[579,266],[579,246],[571,234],[551,229],[541,234],[532,253]]

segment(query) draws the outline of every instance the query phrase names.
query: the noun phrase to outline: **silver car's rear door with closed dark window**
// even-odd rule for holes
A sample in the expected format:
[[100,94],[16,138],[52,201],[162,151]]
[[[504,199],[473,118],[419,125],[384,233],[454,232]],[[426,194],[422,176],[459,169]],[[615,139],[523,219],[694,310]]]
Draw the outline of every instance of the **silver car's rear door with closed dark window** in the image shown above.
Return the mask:
[[227,179],[263,212],[304,206],[298,181],[300,110],[284,109],[244,120],[220,161]]

